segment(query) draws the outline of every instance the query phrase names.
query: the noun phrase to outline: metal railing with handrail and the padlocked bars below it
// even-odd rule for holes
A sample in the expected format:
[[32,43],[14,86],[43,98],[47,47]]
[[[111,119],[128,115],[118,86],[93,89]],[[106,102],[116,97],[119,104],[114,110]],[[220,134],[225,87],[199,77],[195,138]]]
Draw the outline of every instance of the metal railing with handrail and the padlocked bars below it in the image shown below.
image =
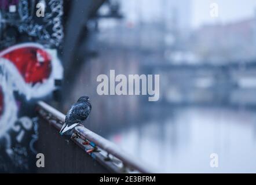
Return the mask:
[[[38,113],[60,131],[65,120],[63,113],[43,101],[38,102]],[[82,125],[75,127],[71,140],[112,172],[152,173],[149,166]]]

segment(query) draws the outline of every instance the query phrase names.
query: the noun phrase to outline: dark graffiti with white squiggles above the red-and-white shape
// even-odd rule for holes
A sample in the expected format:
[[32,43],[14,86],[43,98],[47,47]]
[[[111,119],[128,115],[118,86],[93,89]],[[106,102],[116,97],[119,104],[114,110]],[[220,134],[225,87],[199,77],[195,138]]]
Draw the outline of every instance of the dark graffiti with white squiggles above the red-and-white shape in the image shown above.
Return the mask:
[[[36,5],[45,5],[45,16],[36,16]],[[13,11],[8,9],[13,7]],[[34,40],[58,48],[64,38],[63,0],[0,1],[0,46],[2,49],[23,40]]]

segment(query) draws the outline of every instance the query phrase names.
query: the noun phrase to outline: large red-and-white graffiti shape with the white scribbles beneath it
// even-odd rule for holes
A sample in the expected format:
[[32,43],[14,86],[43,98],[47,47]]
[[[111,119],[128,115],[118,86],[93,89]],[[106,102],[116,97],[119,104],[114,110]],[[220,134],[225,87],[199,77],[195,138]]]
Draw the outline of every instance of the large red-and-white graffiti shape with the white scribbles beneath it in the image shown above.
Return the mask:
[[38,120],[27,104],[49,95],[62,77],[55,50],[24,43],[0,52],[0,150],[19,169],[28,169],[27,156],[36,154],[38,139]]

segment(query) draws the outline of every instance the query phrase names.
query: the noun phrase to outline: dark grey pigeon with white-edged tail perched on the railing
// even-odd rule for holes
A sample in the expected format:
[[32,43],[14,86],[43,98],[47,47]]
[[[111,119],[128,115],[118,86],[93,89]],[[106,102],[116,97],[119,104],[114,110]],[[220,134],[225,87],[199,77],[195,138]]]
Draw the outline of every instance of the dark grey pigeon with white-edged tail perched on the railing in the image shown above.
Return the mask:
[[61,135],[70,135],[72,130],[87,119],[92,110],[90,99],[87,96],[80,97],[68,111],[65,122],[60,129]]

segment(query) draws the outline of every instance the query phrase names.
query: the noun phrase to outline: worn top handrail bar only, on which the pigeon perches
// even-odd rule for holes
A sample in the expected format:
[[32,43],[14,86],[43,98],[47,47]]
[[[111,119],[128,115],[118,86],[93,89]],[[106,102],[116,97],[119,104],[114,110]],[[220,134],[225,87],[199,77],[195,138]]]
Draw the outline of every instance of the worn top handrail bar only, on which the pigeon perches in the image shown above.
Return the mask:
[[[58,123],[55,124],[55,127],[60,130],[60,123],[64,123],[65,115],[43,101],[39,101],[38,106],[39,108],[42,108],[48,112],[50,116],[53,116],[58,120]],[[82,136],[82,138],[93,142],[97,147],[100,147],[100,149],[104,150],[105,153],[107,153],[107,157],[109,154],[111,154],[112,156],[118,158],[118,160],[122,161],[123,166],[130,167],[131,169],[141,173],[152,173],[150,170],[151,168],[146,167],[145,164],[142,164],[141,161],[137,161],[135,158],[131,157],[125,151],[120,149],[120,147],[103,138],[102,136],[90,131],[89,129],[83,126],[78,126],[75,127],[74,132],[79,136]]]

